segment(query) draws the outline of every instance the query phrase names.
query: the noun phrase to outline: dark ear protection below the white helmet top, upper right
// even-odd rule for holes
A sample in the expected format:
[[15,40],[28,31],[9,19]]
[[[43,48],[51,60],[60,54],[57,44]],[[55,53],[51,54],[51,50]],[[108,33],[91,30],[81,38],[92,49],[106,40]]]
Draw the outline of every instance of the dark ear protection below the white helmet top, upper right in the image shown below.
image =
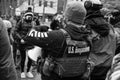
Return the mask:
[[99,10],[103,7],[102,4],[94,4],[92,1],[85,1],[84,2],[84,7],[87,9],[87,10]]

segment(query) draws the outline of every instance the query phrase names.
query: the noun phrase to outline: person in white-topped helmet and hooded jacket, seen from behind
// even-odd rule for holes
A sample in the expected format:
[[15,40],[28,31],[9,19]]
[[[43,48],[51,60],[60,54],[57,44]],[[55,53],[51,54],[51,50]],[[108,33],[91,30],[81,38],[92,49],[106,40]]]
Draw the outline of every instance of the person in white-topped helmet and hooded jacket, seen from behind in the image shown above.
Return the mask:
[[91,80],[105,80],[115,55],[117,36],[113,26],[104,19],[100,12],[102,8],[100,0],[85,1],[84,6],[87,10],[85,24],[98,35],[92,40],[90,59],[95,67],[91,73]]

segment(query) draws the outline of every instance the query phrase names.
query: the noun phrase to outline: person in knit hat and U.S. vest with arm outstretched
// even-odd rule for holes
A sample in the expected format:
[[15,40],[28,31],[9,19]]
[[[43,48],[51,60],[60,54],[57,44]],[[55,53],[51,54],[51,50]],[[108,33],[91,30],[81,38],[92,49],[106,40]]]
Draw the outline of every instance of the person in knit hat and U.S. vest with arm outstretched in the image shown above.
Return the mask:
[[86,39],[89,30],[83,25],[86,9],[82,2],[70,2],[64,16],[64,29],[40,32],[35,28],[24,38],[26,43],[45,49],[40,68],[42,80],[79,80],[86,71],[90,51]]

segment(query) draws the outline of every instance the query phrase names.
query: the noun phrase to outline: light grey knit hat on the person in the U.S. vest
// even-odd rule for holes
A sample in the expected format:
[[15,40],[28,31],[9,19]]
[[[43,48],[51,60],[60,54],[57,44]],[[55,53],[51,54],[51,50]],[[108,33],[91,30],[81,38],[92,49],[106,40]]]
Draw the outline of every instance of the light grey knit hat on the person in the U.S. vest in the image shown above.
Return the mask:
[[82,2],[72,1],[67,4],[63,14],[69,21],[77,24],[83,24],[86,16],[86,9],[84,8],[84,4]]

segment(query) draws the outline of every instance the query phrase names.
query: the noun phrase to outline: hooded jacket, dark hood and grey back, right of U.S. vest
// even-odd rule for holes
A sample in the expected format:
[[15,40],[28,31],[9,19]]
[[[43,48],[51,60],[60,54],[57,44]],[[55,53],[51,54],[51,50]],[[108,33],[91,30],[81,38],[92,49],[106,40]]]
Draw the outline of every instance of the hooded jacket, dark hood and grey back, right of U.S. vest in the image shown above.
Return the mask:
[[86,24],[100,34],[100,39],[93,40],[91,60],[96,66],[110,66],[116,49],[116,34],[99,11],[87,15]]

